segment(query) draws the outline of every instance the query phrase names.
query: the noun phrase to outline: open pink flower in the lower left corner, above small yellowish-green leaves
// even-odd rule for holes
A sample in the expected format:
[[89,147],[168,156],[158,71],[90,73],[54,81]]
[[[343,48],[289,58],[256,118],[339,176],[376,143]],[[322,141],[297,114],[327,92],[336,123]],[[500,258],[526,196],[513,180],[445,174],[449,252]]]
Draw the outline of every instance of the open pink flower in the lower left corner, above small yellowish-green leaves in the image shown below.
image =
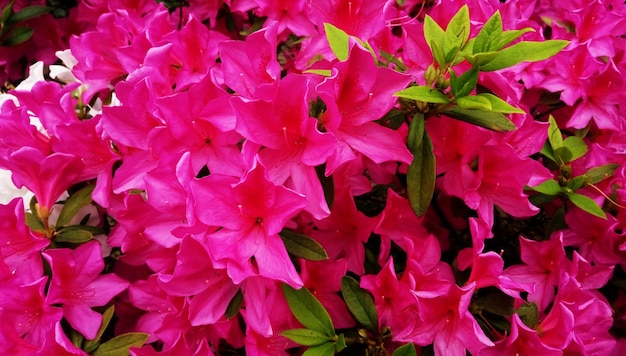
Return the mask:
[[91,309],[108,303],[128,287],[114,274],[100,275],[104,268],[100,244],[88,242],[75,250],[51,249],[43,253],[52,269],[46,302],[62,304],[63,316],[87,339],[93,339],[102,315]]

